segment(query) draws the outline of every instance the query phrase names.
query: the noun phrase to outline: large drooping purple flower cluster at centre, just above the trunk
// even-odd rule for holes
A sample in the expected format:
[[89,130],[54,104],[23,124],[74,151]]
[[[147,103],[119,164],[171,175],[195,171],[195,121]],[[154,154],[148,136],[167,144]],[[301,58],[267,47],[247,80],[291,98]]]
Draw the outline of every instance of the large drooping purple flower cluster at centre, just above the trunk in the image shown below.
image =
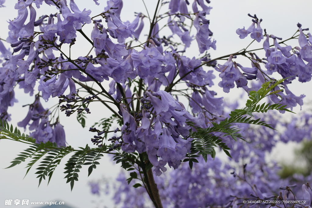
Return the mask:
[[[199,118],[189,114],[184,106],[177,102],[169,93],[159,90],[157,93],[146,91],[146,94],[157,115],[154,125],[154,132],[157,135],[152,137],[154,142],[149,142],[147,145],[148,155],[154,161],[154,171],[157,175],[160,175],[161,167],[158,167],[155,150],[157,149],[157,156],[161,157],[164,162],[168,162],[170,167],[177,168],[181,163],[180,160],[191,148],[190,141],[192,139],[188,138],[190,127],[186,124],[186,121],[192,121],[198,126],[201,126],[203,123]],[[160,96],[161,99],[156,96]],[[180,134],[187,139],[182,139]],[[159,136],[159,143],[156,142],[157,140],[155,141],[156,136]],[[146,139],[145,143],[147,143]]]

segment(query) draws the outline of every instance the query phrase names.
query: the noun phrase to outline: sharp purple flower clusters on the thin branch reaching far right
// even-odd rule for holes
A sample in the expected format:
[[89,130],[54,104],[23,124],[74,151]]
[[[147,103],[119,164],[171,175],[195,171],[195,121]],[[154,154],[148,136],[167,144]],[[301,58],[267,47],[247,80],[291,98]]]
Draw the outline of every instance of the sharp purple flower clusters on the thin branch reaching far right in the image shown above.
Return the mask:
[[[256,15],[252,16],[252,24],[246,30],[245,27],[242,29],[237,29],[236,33],[239,35],[241,39],[251,34],[251,38],[260,42],[263,39],[263,32],[260,27],[260,22],[262,19],[258,19]],[[257,27],[255,25],[257,24]],[[259,79],[261,82],[267,81],[267,77],[272,75],[274,72],[280,74],[283,78],[287,78],[283,83],[283,88],[285,92],[280,92],[280,97],[278,98],[276,95],[272,95],[271,99],[275,103],[279,103],[282,100],[282,103],[287,106],[287,108],[293,108],[297,104],[302,105],[302,99],[305,95],[296,96],[293,94],[287,87],[288,84],[291,83],[291,80],[295,80],[298,77],[300,82],[307,82],[311,80],[312,68],[311,68],[311,57],[312,57],[312,46],[311,46],[311,34],[308,33],[307,39],[306,35],[303,33],[301,24],[297,24],[299,27],[299,46],[281,46],[278,40],[281,38],[276,37],[274,35],[265,34],[266,40],[263,42],[263,49],[266,52],[266,58],[260,59],[256,54],[251,55],[251,66],[252,68],[246,68],[242,65],[233,62],[232,59],[235,56],[230,56],[227,62],[224,65],[218,64],[218,67],[215,67],[215,70],[220,72],[219,76],[222,78],[222,81],[219,82],[219,86],[223,88],[224,92],[229,92],[231,88],[234,88],[236,83],[237,87],[242,87],[246,91],[250,91],[251,88],[247,87],[247,80]],[[266,32],[265,32],[266,33]],[[274,47],[270,47],[269,40],[273,39]],[[245,49],[246,50],[246,49]],[[243,51],[245,53],[246,51]],[[238,53],[239,54],[239,53]],[[263,63],[265,65],[266,71],[261,69],[259,63]],[[243,73],[237,67],[239,66]],[[276,89],[278,90],[278,89]]]

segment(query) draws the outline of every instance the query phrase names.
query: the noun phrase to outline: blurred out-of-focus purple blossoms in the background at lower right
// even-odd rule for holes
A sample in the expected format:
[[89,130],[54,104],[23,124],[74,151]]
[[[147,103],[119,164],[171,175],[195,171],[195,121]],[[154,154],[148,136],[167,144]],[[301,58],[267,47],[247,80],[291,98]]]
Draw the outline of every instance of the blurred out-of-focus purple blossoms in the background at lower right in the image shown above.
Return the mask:
[[[280,179],[278,175],[280,167],[276,161],[266,162],[266,154],[270,153],[278,142],[311,140],[311,119],[311,114],[303,114],[287,123],[281,122],[279,115],[266,117],[265,120],[274,128],[279,124],[285,126],[287,130],[280,131],[281,133],[265,127],[253,128],[250,124],[242,126],[245,138],[249,139],[247,141],[250,144],[233,143],[227,137],[224,139],[232,149],[232,161],[208,157],[205,163],[202,157],[198,157],[199,163],[194,164],[192,170],[184,163],[178,169],[166,172],[163,177],[155,178],[163,206],[236,207],[241,205],[243,199],[250,198],[250,193],[256,196],[254,201],[257,201],[271,195],[279,196],[279,189],[282,191],[282,199],[294,199],[288,187],[296,194],[296,199],[305,199],[307,203],[311,203],[312,191],[309,183],[306,183],[311,181],[311,174],[306,177],[295,175],[295,183],[298,186],[292,187],[290,185],[294,183],[293,179]],[[298,125],[302,122],[303,125]],[[144,188],[129,186],[124,177],[124,174],[120,173],[119,185],[113,189],[116,194],[115,203],[122,203],[125,207],[145,204],[144,197],[140,197],[138,201],[132,200],[138,194],[142,194]],[[311,206],[311,204],[302,205]],[[298,204],[296,206],[301,207]]]

